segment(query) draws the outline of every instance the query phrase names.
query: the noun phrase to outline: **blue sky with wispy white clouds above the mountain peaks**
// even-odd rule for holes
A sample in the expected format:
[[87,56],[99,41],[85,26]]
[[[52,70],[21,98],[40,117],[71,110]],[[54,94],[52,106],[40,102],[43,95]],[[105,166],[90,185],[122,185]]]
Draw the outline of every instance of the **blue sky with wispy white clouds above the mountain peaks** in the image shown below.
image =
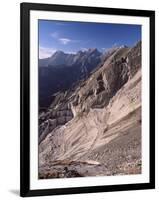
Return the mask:
[[88,48],[105,51],[114,46],[133,46],[139,40],[140,25],[39,20],[39,58],[57,50],[76,53]]

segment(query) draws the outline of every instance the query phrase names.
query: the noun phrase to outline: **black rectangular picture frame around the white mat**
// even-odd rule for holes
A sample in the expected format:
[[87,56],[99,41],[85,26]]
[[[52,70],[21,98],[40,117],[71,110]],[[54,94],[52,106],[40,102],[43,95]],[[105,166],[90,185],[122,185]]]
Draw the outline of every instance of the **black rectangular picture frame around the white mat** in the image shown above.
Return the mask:
[[[140,16],[150,19],[150,180],[149,183],[103,185],[89,187],[59,188],[59,189],[30,189],[30,11],[60,11],[94,14],[111,14],[123,16]],[[155,188],[155,11],[131,10],[101,7],[83,7],[71,5],[49,5],[21,3],[21,126],[20,126],[20,195],[22,197],[39,195],[61,195],[77,193],[94,193],[123,190],[140,190]]]

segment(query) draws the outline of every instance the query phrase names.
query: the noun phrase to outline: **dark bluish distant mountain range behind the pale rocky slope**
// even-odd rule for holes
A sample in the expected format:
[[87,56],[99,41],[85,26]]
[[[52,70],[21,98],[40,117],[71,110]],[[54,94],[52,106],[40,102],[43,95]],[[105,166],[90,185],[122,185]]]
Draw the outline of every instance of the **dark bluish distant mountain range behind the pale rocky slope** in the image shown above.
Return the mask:
[[65,91],[80,80],[85,80],[104,57],[96,48],[92,48],[76,54],[56,51],[49,58],[39,59],[40,107],[47,107],[55,92]]

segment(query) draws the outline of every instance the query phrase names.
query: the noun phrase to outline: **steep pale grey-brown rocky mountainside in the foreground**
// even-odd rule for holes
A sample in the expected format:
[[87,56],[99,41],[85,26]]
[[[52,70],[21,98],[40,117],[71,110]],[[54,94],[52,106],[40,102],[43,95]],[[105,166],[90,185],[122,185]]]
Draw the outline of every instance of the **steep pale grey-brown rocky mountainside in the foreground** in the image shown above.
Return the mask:
[[40,115],[39,177],[141,172],[141,43],[117,48]]

